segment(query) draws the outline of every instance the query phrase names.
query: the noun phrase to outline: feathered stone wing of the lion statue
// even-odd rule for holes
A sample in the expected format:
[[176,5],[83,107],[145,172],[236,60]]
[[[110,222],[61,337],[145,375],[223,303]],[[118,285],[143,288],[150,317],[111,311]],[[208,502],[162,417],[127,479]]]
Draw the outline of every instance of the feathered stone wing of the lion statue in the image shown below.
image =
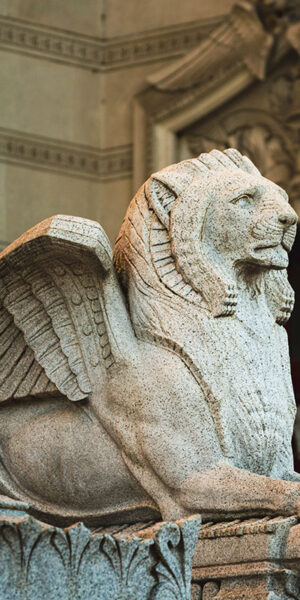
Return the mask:
[[87,398],[133,338],[98,223],[58,215],[0,254],[0,401]]

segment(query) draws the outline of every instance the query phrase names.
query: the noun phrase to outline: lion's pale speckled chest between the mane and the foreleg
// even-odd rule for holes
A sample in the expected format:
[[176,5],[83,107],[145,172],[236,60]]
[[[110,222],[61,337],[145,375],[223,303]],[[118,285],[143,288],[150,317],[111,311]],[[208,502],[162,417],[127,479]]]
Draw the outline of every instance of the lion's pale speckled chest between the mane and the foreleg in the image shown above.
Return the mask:
[[216,400],[211,412],[224,453],[237,467],[270,475],[293,428],[285,331],[273,323],[260,335],[238,319],[219,319],[202,342],[202,373]]

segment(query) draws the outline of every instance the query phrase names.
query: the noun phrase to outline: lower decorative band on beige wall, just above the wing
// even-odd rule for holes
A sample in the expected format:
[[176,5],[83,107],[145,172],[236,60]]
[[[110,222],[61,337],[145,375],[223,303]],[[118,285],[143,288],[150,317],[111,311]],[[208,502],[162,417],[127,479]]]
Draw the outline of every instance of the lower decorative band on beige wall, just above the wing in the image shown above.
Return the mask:
[[132,146],[100,150],[0,127],[0,161],[63,175],[110,180],[132,171]]

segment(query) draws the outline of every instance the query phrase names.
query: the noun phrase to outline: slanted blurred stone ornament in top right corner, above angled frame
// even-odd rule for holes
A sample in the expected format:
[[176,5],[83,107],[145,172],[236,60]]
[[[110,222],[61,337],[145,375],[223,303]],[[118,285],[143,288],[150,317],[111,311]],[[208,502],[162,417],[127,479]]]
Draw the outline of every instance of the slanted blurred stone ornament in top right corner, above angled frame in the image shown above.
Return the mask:
[[299,20],[298,0],[233,0],[229,14],[196,48],[147,80],[161,91],[187,90],[237,64],[263,80],[272,52],[282,55],[287,46],[298,51]]

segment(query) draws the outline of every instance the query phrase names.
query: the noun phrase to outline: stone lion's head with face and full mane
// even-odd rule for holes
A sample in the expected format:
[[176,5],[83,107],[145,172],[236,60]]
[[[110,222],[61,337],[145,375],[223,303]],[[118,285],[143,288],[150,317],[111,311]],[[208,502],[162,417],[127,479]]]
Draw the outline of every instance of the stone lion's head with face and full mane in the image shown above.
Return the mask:
[[297,216],[284,190],[237,150],[212,150],[152,175],[130,204],[115,246],[126,285],[234,314],[239,280],[263,280],[279,323],[290,315],[286,275]]

